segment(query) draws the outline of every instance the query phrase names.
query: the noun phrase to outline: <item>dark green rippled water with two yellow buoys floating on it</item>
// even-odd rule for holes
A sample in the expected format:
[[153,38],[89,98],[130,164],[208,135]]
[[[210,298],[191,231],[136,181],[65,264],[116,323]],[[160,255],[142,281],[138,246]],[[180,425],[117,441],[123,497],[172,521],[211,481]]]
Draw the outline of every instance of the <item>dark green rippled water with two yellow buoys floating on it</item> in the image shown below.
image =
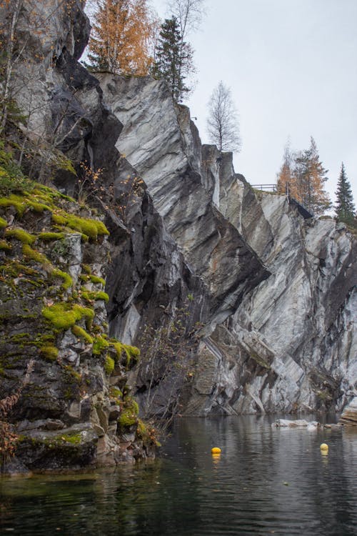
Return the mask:
[[[3,478],[0,534],[357,535],[356,432],[271,422],[184,419],[154,462]],[[212,446],[221,447],[217,460]]]

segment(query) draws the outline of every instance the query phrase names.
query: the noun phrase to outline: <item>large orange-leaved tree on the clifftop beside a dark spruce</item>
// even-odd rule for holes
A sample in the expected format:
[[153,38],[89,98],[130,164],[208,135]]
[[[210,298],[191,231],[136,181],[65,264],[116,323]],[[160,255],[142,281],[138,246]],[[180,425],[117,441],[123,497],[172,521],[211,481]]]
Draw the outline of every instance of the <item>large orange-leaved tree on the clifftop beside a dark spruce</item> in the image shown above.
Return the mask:
[[152,33],[146,0],[98,0],[89,40],[91,66],[113,74],[148,74]]

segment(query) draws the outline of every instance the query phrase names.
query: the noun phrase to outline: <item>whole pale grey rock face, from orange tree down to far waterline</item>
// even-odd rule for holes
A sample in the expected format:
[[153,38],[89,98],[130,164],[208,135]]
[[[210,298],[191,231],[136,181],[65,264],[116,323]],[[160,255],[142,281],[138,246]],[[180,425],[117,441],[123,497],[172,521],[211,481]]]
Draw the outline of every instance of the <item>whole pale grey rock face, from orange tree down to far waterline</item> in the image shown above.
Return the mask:
[[[162,82],[100,80],[124,124],[117,147],[215,300],[186,413],[341,410],[356,382],[351,234],[333,219],[303,219],[284,196],[254,192],[231,154],[203,146],[201,156],[187,110]],[[253,271],[247,284],[244,267],[258,259],[264,279]]]

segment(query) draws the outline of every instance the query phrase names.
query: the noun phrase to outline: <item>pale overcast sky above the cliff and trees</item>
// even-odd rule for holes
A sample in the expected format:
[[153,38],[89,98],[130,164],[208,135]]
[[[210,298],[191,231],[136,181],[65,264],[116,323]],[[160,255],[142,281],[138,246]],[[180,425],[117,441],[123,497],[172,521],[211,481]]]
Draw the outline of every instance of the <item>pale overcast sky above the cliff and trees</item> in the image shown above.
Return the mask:
[[[152,0],[159,15],[166,0]],[[283,147],[313,136],[334,199],[344,162],[357,202],[357,0],[206,0],[201,31],[188,36],[198,68],[185,103],[203,143],[207,103],[220,80],[240,117],[236,172],[276,182]]]

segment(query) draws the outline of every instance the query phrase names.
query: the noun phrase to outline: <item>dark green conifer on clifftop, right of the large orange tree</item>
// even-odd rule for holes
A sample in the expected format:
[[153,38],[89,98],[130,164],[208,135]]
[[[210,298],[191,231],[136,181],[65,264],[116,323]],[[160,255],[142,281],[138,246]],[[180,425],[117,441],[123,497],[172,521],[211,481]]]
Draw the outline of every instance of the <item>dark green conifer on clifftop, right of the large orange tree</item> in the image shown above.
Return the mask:
[[156,61],[152,74],[163,78],[176,102],[181,102],[188,91],[186,75],[193,71],[191,46],[181,39],[176,17],[165,19],[156,45]]

